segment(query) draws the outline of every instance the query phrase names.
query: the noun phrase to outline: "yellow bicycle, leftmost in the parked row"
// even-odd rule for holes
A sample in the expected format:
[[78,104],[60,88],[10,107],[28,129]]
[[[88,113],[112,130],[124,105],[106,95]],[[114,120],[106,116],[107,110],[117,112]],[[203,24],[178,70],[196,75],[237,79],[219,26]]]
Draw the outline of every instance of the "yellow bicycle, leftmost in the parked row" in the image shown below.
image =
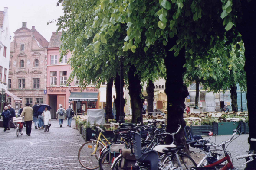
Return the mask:
[[[97,140],[91,139],[90,141],[85,142],[84,144],[82,144],[78,151],[79,163],[82,165],[82,167],[85,167],[89,170],[94,170],[99,167],[98,160],[101,150],[107,144],[111,144],[111,142],[108,141],[108,139],[102,134],[102,132],[105,131],[98,126],[96,128],[98,128],[99,131],[99,135],[98,137],[96,137]],[[96,134],[93,134],[93,136],[96,136]],[[101,137],[103,137],[105,140],[101,139]],[[105,141],[107,144],[102,141]]]

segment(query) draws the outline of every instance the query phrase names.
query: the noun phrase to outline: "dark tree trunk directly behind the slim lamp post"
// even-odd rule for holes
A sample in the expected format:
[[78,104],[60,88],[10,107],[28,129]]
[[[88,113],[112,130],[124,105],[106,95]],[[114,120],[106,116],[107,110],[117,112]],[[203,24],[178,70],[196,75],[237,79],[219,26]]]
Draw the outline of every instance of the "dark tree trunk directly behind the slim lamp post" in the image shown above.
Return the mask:
[[[124,79],[122,80],[122,86],[120,87],[120,75],[118,73],[116,73],[116,76],[115,76],[115,93],[116,93],[116,96],[115,96],[115,110],[116,110],[116,122],[119,121],[119,116],[120,116],[120,100],[122,98],[123,102],[122,102],[122,108],[121,110],[123,111],[124,110],[124,107],[125,107],[125,99],[124,99],[124,90],[122,90],[122,94],[121,94],[121,98],[120,98],[120,88],[121,89],[124,89],[124,85],[125,85],[125,82],[124,82]],[[124,111],[123,111],[124,112]]]

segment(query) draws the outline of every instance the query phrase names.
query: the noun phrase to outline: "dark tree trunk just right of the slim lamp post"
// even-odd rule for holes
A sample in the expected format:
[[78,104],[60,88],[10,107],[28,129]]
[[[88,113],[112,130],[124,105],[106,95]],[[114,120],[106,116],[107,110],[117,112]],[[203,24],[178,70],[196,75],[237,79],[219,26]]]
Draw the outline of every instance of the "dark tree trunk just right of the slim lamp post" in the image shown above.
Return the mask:
[[131,122],[133,123],[142,123],[142,108],[143,108],[143,99],[141,98],[141,80],[138,74],[134,75],[136,72],[134,65],[131,65],[128,71],[128,90],[131,98],[131,110],[132,117]]

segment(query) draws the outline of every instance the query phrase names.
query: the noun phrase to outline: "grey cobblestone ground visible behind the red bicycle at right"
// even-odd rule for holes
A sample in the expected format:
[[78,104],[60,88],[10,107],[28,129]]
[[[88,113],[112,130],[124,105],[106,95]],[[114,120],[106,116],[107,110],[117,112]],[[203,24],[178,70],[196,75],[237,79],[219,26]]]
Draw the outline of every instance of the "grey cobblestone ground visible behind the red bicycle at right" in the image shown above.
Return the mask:
[[[234,138],[236,138],[237,136],[238,135],[236,135]],[[221,144],[221,142],[227,141],[230,137],[231,135],[219,135],[219,136],[216,136],[216,142],[215,142],[215,137],[211,139],[211,142],[214,142],[215,144]],[[236,138],[233,142],[231,142],[230,145],[226,148],[226,151],[229,151],[231,153],[234,167],[236,167],[236,169],[238,170],[243,170],[246,167],[246,165],[242,167],[242,164],[244,164],[246,160],[245,159],[237,160],[236,156],[248,154],[246,152],[246,151],[249,151],[249,144],[247,142],[248,137],[249,137],[248,134],[246,135],[243,134],[238,138]],[[203,137],[203,138],[207,139],[207,137]],[[227,145],[228,144],[226,144],[226,146]],[[219,149],[221,149],[221,147]],[[190,147],[190,151],[200,152],[201,150]],[[223,152],[219,152],[219,154],[223,155]]]

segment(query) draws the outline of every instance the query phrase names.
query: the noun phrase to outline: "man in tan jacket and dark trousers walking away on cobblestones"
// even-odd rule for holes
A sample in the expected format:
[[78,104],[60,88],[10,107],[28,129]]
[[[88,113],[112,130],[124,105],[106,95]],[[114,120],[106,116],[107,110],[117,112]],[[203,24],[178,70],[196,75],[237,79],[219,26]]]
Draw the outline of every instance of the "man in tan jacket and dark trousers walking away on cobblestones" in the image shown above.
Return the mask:
[[24,116],[24,122],[26,123],[26,134],[31,136],[32,120],[33,120],[33,109],[30,107],[30,103],[25,104],[26,107],[20,116]]

